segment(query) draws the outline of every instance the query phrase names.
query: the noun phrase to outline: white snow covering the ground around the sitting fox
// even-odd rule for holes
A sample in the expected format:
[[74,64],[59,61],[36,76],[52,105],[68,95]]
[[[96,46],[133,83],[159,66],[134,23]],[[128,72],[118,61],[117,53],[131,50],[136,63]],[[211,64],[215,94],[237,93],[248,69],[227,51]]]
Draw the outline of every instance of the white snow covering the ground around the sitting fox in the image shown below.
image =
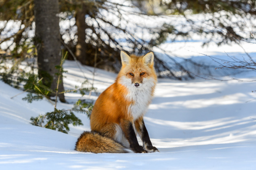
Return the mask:
[[[177,54],[195,55],[189,47],[207,55],[224,56],[225,50],[243,54],[236,47],[202,49],[198,42],[179,47]],[[253,48],[248,50],[255,54]],[[92,83],[93,68],[82,66],[82,73],[72,61],[66,61],[64,68],[68,71],[64,79],[66,89],[80,85],[84,75]],[[114,73],[97,69],[94,85],[98,92],[111,85],[115,77]],[[256,75],[251,72],[240,78],[251,81],[256,80]],[[141,154],[74,151],[80,133],[90,130],[86,115],[78,114],[84,125],[71,126],[69,134],[30,125],[31,116],[45,114],[54,107],[47,100],[32,104],[23,101],[26,93],[11,99],[21,91],[0,81],[0,169],[255,170],[256,92],[252,91],[256,86],[249,81],[158,79],[145,125],[160,153]],[[58,103],[59,108],[71,108],[80,95],[65,97],[69,104]]]

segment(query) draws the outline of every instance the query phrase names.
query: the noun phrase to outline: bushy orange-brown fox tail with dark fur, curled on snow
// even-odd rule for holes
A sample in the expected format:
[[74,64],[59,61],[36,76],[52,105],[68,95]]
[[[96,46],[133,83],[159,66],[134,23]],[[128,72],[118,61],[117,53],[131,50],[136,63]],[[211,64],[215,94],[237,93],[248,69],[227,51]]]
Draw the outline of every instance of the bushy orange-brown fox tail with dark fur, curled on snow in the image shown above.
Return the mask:
[[93,153],[129,153],[122,144],[95,131],[83,132],[76,142],[75,150]]

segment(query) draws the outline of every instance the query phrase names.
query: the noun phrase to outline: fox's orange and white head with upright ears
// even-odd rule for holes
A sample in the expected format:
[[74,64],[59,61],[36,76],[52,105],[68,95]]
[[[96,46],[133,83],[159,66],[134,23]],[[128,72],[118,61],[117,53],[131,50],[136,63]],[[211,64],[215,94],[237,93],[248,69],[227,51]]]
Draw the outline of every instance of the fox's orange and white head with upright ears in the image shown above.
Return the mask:
[[154,87],[156,73],[154,70],[154,53],[144,56],[128,55],[121,51],[122,68],[118,74],[119,82],[130,88]]

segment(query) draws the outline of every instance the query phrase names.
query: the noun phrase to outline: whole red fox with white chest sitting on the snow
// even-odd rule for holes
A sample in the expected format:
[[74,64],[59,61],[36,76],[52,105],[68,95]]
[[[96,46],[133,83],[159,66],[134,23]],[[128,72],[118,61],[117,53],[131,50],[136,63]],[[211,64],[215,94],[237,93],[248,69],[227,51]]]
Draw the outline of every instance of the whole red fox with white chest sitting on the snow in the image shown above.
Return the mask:
[[[143,121],[157,82],[153,60],[153,52],[138,57],[121,51],[122,67],[117,79],[96,100],[90,118],[92,132],[83,132],[80,135],[76,142],[76,151],[158,151],[152,146]],[[136,133],[141,137],[143,146],[139,145]]]

